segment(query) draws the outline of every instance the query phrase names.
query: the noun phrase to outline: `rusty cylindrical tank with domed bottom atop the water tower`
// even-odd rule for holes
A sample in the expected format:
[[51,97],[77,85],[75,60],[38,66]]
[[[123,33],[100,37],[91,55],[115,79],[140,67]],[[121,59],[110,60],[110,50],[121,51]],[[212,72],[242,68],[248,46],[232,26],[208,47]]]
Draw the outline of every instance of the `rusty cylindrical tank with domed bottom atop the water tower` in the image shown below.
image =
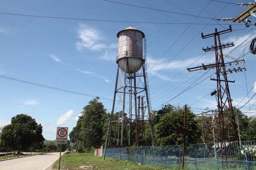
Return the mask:
[[117,37],[119,40],[119,48],[116,63],[122,71],[125,71],[126,60],[126,73],[136,73],[145,62],[145,59],[143,58],[143,38],[145,37],[145,34],[130,26],[119,31]]

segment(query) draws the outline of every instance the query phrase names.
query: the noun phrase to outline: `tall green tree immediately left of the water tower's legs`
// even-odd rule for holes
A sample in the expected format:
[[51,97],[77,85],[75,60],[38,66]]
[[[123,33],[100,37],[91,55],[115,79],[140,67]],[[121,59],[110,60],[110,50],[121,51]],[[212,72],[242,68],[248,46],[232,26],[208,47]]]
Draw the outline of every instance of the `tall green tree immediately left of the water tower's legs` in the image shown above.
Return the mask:
[[95,147],[102,145],[103,125],[106,109],[102,102],[99,102],[99,97],[91,100],[88,105],[83,108],[81,116],[76,124],[76,127],[70,132],[70,140],[84,142],[86,147]]

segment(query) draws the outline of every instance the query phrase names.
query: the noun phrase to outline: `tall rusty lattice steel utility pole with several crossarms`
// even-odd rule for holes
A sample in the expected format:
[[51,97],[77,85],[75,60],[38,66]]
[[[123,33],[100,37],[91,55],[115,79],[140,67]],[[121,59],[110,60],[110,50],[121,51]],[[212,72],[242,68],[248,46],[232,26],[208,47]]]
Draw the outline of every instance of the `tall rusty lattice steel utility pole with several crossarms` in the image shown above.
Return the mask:
[[[214,37],[214,45],[212,47],[207,47],[203,48],[205,52],[207,51],[215,51],[215,63],[214,64],[209,64],[209,65],[204,65],[194,67],[194,68],[187,68],[188,71],[197,71],[197,70],[209,70],[216,68],[216,79],[211,78],[211,80],[214,80],[217,82],[217,103],[218,103],[218,119],[219,119],[219,124],[220,124],[220,142],[221,144],[226,145],[226,132],[229,131],[232,135],[230,142],[237,141],[237,130],[236,130],[236,124],[235,124],[235,116],[233,113],[233,107],[232,107],[232,102],[231,102],[231,97],[230,97],[230,90],[229,90],[229,82],[235,82],[235,81],[228,81],[227,80],[227,74],[233,73],[233,72],[240,72],[240,71],[246,71],[246,69],[241,67],[238,68],[233,68],[234,65],[244,63],[244,60],[234,60],[233,62],[224,62],[224,57],[222,53],[223,48],[228,48],[234,46],[233,42],[232,43],[227,43],[227,44],[222,44],[221,45],[221,39],[220,35],[221,34],[226,34],[232,31],[231,26],[227,30],[223,31],[217,31],[217,28],[215,28],[215,32],[212,34],[204,35],[201,33],[201,37],[203,39],[209,38],[209,37]],[[227,66],[231,66],[231,68],[226,70]],[[224,114],[224,109],[227,109],[228,113]],[[226,122],[227,118],[230,119],[230,122]],[[226,146],[221,146],[225,148]],[[225,150],[225,152],[227,152]],[[222,156],[224,154],[221,154]],[[227,154],[226,154],[227,155]],[[227,159],[227,156],[226,156]]]

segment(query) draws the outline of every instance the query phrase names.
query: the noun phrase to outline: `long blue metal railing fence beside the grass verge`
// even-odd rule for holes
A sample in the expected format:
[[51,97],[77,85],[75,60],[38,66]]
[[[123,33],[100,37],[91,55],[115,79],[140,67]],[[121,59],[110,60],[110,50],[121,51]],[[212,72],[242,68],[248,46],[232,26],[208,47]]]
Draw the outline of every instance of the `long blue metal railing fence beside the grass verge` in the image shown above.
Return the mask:
[[[184,153],[186,170],[256,170],[256,141],[187,144]],[[182,145],[109,148],[106,157],[174,168]]]

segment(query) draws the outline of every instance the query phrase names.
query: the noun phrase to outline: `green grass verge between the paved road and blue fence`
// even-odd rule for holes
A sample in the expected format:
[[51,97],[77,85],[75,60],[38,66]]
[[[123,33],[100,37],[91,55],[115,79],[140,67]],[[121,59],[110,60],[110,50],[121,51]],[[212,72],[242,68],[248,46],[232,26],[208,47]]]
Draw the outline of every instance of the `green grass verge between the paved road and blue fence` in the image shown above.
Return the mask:
[[[57,160],[52,170],[58,170]],[[69,153],[61,156],[61,170],[169,170],[164,167],[137,164],[132,161],[93,156],[90,154]]]

